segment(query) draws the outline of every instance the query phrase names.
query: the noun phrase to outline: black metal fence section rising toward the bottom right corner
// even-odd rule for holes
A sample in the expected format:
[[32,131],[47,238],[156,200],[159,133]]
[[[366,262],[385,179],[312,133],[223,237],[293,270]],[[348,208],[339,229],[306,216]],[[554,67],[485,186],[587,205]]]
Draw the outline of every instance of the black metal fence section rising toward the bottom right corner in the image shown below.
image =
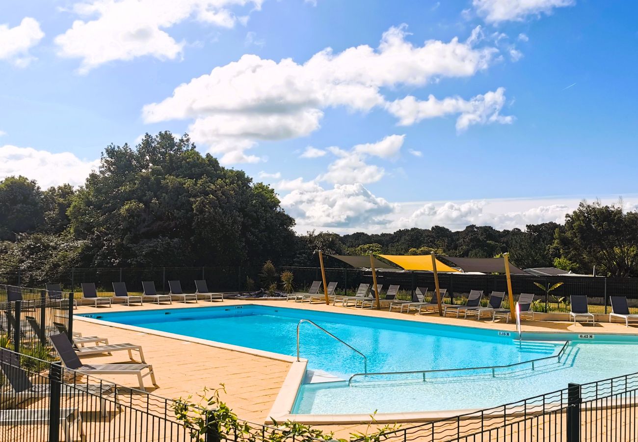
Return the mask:
[[[387,442],[638,441],[638,373],[385,434]],[[357,442],[364,442],[358,439]]]

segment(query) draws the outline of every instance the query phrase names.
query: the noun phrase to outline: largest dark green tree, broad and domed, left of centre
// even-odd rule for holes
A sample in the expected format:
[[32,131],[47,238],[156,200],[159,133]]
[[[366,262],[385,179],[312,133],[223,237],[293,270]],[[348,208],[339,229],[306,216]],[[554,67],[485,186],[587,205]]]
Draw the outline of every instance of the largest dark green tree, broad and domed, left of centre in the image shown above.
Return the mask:
[[94,266],[280,262],[294,240],[272,188],[170,132],[147,134],[135,149],[108,146],[68,215]]

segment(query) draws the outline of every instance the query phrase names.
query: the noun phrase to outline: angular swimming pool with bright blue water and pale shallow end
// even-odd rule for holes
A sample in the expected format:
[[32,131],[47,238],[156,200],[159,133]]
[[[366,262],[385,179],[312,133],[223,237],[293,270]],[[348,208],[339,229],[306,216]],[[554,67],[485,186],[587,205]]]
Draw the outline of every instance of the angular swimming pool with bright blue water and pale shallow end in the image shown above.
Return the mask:
[[[396,413],[485,408],[531,395],[636,371],[638,340],[631,337],[551,333],[521,343],[515,333],[345,313],[242,305],[82,315],[208,339],[236,346],[296,356],[297,324],[309,319],[367,358],[367,372],[405,372],[489,367],[556,356],[572,339],[560,362],[550,358],[493,376],[484,370],[417,376],[357,377],[364,358],[308,323],[300,326],[300,356],[310,374],[327,372],[334,382],[309,383],[306,376],[293,413]],[[530,337],[534,337],[530,335]],[[602,369],[604,367],[604,369]],[[342,380],[339,380],[342,379]],[[316,377],[315,377],[316,380]]]

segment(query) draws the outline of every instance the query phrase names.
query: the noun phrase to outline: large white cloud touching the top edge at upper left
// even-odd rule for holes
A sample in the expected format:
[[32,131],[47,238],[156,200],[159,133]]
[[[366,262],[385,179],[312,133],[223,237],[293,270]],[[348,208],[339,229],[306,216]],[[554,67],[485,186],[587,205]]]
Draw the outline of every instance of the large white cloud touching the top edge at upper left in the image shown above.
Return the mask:
[[[219,27],[245,22],[229,8],[252,5],[263,0],[89,0],[75,3],[73,12],[82,20],[56,37],[59,55],[80,58],[80,72],[108,61],[131,60],[141,56],[175,59],[184,42],[177,42],[167,29],[193,18]],[[87,21],[84,21],[87,20]]]

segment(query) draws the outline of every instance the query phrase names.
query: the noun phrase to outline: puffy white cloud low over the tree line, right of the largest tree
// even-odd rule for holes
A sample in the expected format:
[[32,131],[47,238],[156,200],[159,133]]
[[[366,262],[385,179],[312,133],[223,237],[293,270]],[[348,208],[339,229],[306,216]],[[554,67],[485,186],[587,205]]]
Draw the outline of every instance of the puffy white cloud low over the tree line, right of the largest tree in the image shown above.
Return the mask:
[[281,199],[281,206],[295,217],[298,229],[385,225],[394,210],[392,204],[376,197],[362,184],[335,185],[325,190],[293,190]]

